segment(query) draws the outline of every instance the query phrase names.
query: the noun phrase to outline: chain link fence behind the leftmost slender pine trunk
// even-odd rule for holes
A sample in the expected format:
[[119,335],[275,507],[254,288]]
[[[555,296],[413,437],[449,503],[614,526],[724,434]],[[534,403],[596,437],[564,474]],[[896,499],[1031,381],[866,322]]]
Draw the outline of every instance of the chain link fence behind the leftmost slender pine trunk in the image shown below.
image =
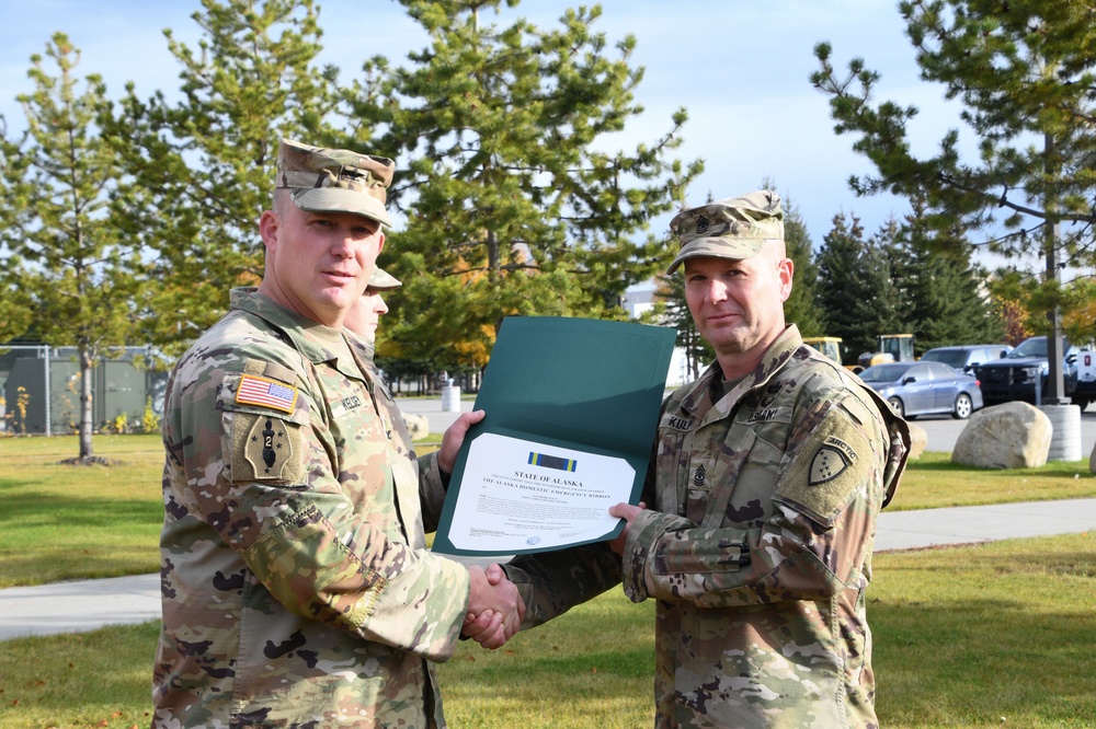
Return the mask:
[[[0,436],[58,436],[80,425],[80,363],[76,347],[0,348]],[[111,349],[91,370],[96,432],[158,428],[170,362],[152,347]]]

